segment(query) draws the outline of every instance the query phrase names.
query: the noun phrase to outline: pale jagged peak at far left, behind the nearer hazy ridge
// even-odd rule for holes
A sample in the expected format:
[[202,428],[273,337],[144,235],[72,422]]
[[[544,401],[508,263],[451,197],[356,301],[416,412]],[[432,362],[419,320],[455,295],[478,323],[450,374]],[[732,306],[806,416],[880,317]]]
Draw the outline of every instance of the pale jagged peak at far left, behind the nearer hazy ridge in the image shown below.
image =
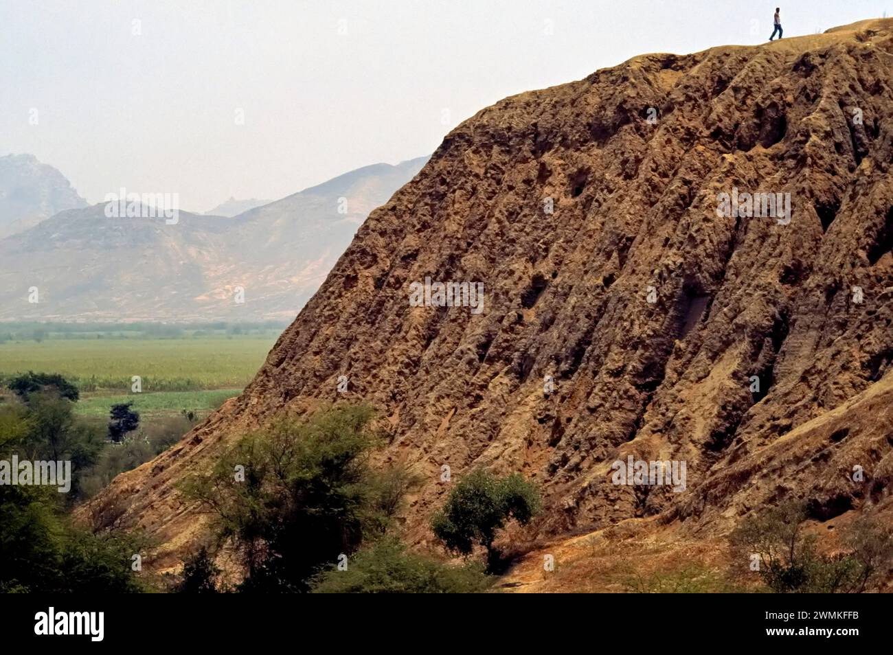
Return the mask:
[[33,154],[0,157],[0,238],[21,232],[59,211],[86,207],[65,176]]

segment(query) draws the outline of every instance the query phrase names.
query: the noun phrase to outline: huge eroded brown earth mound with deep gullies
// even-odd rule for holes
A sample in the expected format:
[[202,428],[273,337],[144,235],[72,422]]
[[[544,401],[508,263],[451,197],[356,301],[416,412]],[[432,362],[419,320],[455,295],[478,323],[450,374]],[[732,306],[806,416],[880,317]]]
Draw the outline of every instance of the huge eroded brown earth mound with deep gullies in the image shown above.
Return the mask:
[[[864,21],[642,55],[478,112],[371,213],[245,393],[82,511],[142,526],[173,566],[202,533],[178,480],[338,400],[341,375],[380,411],[382,457],[427,474],[414,543],[444,464],[538,480],[545,537],[706,538],[789,495],[817,521],[889,511],[891,80],[893,21]],[[719,216],[732,187],[789,193],[789,224]],[[483,311],[410,307],[426,276],[483,283]],[[628,454],[685,460],[686,491],[611,484]]]

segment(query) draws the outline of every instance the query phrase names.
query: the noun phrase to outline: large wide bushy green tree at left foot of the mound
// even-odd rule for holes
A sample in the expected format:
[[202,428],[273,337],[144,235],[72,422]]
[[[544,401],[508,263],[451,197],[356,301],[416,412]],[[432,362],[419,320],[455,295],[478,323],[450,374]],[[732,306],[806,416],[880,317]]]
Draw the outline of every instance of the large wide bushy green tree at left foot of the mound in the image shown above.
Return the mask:
[[184,491],[213,510],[244,558],[241,591],[305,592],[381,525],[371,409],[339,406],[246,435]]

